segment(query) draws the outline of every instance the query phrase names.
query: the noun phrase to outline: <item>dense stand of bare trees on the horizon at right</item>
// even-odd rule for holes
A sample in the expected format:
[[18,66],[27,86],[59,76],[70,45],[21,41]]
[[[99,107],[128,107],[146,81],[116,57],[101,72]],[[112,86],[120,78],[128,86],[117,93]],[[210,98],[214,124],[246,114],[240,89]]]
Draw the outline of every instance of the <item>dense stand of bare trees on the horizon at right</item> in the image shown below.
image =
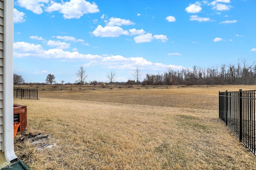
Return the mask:
[[220,67],[212,66],[202,68],[193,66],[192,69],[182,69],[174,71],[168,68],[162,74],[146,74],[142,85],[228,85],[243,84],[252,85],[256,83],[256,65],[242,64],[222,64]]

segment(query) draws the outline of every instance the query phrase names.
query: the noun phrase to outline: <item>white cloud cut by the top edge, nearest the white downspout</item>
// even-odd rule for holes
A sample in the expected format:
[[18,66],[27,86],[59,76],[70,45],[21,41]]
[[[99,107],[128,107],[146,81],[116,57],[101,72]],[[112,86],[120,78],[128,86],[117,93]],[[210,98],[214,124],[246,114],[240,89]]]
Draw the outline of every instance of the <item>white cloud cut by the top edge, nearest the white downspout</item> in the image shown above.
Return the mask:
[[44,8],[44,4],[47,4],[49,0],[17,0],[19,6],[26,8],[34,12],[35,14],[42,14]]

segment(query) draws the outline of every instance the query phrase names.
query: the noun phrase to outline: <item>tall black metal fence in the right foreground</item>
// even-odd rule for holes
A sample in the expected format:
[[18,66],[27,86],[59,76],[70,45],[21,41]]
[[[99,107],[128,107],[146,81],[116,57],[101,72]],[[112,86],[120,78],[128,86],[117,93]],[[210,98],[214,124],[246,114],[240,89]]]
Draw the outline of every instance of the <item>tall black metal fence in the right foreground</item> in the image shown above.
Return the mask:
[[255,96],[256,90],[219,92],[219,117],[239,140],[256,155]]

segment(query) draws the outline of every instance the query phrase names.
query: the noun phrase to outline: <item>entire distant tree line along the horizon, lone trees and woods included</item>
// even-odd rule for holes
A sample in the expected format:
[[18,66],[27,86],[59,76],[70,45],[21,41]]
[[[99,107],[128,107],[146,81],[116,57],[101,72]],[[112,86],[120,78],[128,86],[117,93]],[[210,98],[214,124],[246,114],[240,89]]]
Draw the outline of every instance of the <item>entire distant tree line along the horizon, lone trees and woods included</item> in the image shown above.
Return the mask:
[[[158,74],[146,74],[146,77],[140,82],[141,71],[139,67],[136,67],[134,74],[132,75],[135,80],[127,80],[127,82],[114,82],[116,80],[116,72],[112,71],[107,73],[109,83],[104,82],[106,85],[253,85],[256,84],[256,65],[254,62],[250,65],[246,64],[246,60],[242,60],[242,63],[238,61],[237,65],[234,64],[222,64],[220,67],[211,66],[208,68],[202,68],[200,66],[193,66],[192,69],[184,68],[182,70],[173,70],[168,68],[166,72]],[[75,83],[65,83],[61,80],[59,85],[71,85],[71,84],[90,84],[100,85],[102,82],[96,80],[87,83],[85,78],[87,77],[86,71],[80,66],[76,73],[79,80]],[[46,85],[56,83],[55,76],[48,74],[46,76],[46,83],[25,83],[22,76],[14,74],[14,85],[18,84],[30,84],[30,85]]]

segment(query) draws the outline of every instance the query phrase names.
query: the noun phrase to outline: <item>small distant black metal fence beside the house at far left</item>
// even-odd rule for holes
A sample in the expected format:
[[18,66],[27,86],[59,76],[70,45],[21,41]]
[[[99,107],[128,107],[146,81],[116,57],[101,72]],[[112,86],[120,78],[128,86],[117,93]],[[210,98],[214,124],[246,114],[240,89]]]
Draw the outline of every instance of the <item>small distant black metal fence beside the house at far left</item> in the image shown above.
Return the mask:
[[13,88],[14,99],[38,99],[37,89]]

